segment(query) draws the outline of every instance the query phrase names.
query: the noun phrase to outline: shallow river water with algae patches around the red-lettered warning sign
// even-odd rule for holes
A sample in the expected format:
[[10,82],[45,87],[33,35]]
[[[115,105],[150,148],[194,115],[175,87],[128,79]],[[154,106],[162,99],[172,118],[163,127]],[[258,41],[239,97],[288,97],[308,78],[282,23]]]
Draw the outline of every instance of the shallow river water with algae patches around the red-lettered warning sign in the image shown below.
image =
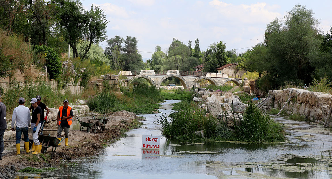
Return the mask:
[[[159,111],[169,115],[172,103]],[[141,149],[142,135],[161,136],[159,114],[139,115],[146,121],[98,156],[68,161],[61,169],[36,174],[41,178],[332,178],[332,133],[318,124],[272,116],[288,133],[279,144],[243,144],[160,140],[159,151]]]

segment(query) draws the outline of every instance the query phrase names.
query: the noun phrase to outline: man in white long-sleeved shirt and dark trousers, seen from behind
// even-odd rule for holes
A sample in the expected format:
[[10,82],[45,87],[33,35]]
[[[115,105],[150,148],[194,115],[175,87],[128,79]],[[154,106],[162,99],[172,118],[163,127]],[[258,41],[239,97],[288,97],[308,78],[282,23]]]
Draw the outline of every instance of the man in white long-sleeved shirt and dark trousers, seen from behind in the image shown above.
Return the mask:
[[28,127],[30,125],[31,118],[30,118],[29,108],[24,106],[24,98],[23,97],[20,97],[19,106],[16,107],[13,111],[12,131],[14,131],[15,121],[16,121],[16,155],[21,154],[20,143],[21,143],[22,133],[23,133],[23,136],[24,136],[25,151],[27,153],[30,153]]

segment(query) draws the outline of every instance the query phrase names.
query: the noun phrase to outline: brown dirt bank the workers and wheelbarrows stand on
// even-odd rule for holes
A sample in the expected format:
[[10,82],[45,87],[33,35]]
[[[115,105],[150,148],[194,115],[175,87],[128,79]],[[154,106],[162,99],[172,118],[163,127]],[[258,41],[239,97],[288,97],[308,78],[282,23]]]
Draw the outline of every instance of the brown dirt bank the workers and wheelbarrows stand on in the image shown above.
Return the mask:
[[97,150],[104,149],[107,145],[115,142],[124,131],[129,131],[141,126],[138,118],[134,113],[127,111],[118,111],[108,114],[108,123],[104,131],[97,130],[96,134],[87,133],[86,131],[73,130],[69,131],[69,146],[61,142],[61,147],[57,147],[56,153],[51,154],[51,148],[44,154],[34,155],[25,153],[21,148],[21,155],[16,155],[16,150],[7,152],[0,160],[0,179],[11,178],[20,169],[28,166],[36,168],[50,167],[51,163],[58,163],[64,160],[76,159],[79,157],[92,156]]

